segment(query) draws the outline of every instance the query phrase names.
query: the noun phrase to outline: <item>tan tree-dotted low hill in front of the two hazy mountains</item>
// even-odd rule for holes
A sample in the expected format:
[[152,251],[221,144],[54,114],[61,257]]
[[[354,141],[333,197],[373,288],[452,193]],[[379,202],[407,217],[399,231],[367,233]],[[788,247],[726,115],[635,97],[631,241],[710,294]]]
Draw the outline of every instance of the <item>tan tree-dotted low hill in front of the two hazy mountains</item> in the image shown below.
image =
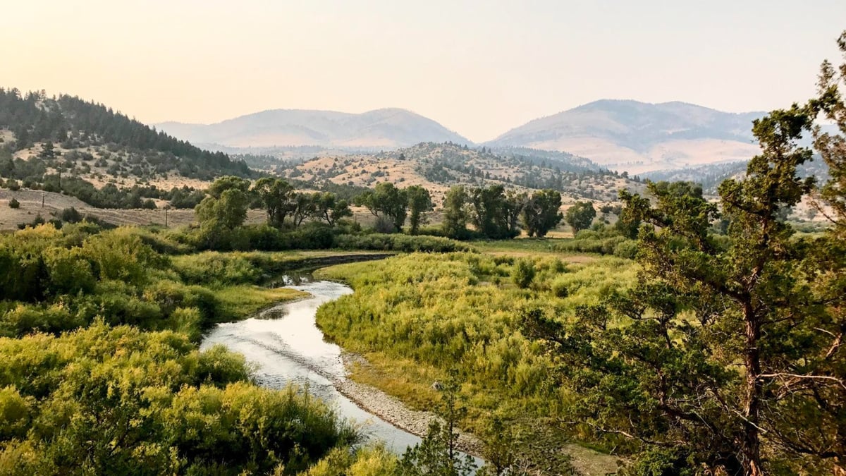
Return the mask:
[[613,202],[620,189],[642,191],[644,186],[625,174],[560,152],[434,142],[390,152],[315,157],[280,165],[275,172],[316,189],[343,186],[360,190],[385,181],[401,188],[422,185],[437,203],[452,185],[503,185],[523,191],[551,188],[561,191],[565,202]]

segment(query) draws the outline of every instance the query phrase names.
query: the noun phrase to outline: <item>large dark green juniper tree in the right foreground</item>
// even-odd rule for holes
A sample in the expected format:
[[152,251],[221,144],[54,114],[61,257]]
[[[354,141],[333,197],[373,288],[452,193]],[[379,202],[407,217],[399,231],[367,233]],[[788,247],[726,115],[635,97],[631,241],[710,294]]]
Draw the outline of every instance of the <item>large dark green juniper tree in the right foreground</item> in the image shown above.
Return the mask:
[[842,467],[843,240],[797,237],[781,219],[813,185],[796,172],[812,157],[796,141],[815,113],[756,120],[761,154],[718,202],[687,186],[621,193],[643,223],[639,284],[568,324],[525,313],[579,396],[569,422],[637,454],[632,473]]

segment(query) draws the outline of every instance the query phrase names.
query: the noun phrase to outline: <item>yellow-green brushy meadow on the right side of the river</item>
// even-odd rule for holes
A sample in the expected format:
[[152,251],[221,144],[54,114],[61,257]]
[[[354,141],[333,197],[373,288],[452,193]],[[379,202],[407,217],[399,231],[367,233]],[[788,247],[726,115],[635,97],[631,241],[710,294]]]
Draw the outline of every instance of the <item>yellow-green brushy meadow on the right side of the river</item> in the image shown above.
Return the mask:
[[[502,418],[526,440],[541,438],[540,429],[556,426],[568,390],[551,377],[554,356],[522,335],[521,316],[541,312],[566,320],[577,307],[634,285],[637,265],[555,255],[545,241],[474,245],[486,251],[322,269],[321,278],[348,282],[355,292],[321,307],[317,323],[328,338],[365,357],[354,379],[410,407],[431,409],[440,401],[433,382],[457,371],[467,407],[464,429],[485,434]],[[520,279],[526,269],[528,281]],[[596,461],[614,459],[593,454]]]

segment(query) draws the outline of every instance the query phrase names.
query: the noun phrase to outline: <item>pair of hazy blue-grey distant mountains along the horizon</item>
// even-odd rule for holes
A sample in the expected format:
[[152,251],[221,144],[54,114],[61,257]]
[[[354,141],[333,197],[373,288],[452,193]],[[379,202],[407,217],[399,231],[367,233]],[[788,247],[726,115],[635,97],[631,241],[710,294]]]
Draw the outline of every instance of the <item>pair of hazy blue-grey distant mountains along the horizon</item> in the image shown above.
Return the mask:
[[[642,174],[751,158],[759,151],[752,121],[763,115],[724,113],[685,102],[603,99],[532,120],[481,145],[569,152],[608,169]],[[157,127],[228,152],[235,152],[233,147],[319,146],[361,152],[420,142],[473,144],[432,119],[397,108],[360,114],[274,109],[212,125],[168,122]]]

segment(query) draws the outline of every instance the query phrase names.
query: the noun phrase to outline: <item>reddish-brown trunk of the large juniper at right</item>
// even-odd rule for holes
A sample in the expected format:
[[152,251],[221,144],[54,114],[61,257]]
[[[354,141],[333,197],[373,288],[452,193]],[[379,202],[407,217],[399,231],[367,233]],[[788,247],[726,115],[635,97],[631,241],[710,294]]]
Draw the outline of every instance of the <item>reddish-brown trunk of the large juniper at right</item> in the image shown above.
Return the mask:
[[744,302],[744,321],[746,322],[746,347],[744,366],[746,368],[746,386],[744,395],[744,434],[742,453],[746,476],[761,476],[761,434],[758,428],[758,415],[761,411],[761,355],[758,351],[758,339],[761,336],[761,323],[755,315],[751,302]]

